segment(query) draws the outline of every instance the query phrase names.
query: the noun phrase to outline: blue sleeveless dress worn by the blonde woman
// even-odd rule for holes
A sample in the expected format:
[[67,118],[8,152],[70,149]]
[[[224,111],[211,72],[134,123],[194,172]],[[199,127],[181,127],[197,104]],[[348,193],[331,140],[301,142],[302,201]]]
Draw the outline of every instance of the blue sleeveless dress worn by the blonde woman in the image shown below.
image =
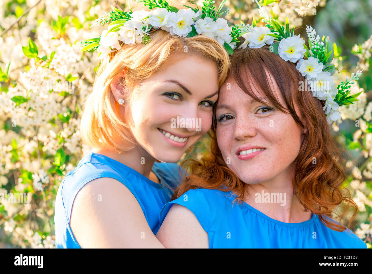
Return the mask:
[[55,200],[55,247],[81,248],[70,227],[73,202],[78,191],[89,181],[110,177],[120,181],[140,204],[147,223],[155,234],[159,227],[161,208],[170,201],[174,189],[183,181],[184,169],[176,163],[154,163],[152,171],[157,184],[121,162],[90,152],[62,180]]

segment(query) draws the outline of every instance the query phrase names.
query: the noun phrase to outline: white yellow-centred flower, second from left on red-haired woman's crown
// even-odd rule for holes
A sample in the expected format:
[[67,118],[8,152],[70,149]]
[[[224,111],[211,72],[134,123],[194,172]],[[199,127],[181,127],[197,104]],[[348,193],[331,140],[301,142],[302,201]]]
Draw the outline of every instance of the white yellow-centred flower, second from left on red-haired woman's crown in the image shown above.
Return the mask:
[[300,35],[284,38],[279,43],[279,56],[285,61],[296,63],[297,60],[304,57],[306,52],[304,44],[305,40]]

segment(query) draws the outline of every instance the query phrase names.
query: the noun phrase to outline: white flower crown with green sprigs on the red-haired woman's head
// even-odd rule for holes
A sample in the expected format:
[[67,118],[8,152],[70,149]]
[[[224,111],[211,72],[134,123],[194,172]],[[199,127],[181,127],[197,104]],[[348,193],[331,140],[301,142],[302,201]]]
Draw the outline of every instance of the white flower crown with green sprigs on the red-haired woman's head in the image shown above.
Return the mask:
[[239,48],[261,48],[265,44],[270,45],[269,50],[278,54],[285,61],[297,63],[296,68],[305,77],[311,87],[312,95],[321,101],[325,101],[323,107],[328,124],[341,118],[338,110],[339,106],[354,104],[358,101],[359,92],[349,95],[353,80],[359,80],[362,71],[351,74],[351,78],[346,77],[337,87],[332,75],[336,67],[331,63],[333,60],[333,45],[330,39],[325,38],[320,41],[319,35],[311,26],[307,26],[306,33],[309,39],[309,47],[305,45],[305,40],[300,35],[294,35],[294,29],[289,29],[288,17],[284,26],[272,19],[257,0],[253,0],[259,6],[259,13],[266,26],[258,27],[253,18],[252,26],[248,27],[248,32],[241,36],[245,39]]

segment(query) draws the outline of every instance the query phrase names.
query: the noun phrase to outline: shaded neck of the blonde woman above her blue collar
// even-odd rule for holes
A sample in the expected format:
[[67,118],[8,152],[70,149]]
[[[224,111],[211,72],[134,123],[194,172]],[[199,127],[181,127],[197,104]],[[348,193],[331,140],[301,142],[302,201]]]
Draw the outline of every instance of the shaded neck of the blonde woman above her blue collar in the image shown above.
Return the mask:
[[155,158],[145,151],[141,146],[137,145],[134,149],[117,153],[113,150],[92,149],[92,152],[103,154],[110,157],[131,169],[141,173],[146,178],[150,179],[150,172],[153,168]]

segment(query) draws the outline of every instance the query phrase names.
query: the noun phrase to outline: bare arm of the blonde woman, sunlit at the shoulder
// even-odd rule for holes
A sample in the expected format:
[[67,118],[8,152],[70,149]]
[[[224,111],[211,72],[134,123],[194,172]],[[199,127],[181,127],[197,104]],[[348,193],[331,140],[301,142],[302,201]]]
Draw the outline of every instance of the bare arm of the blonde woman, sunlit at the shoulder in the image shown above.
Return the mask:
[[164,248],[121,182],[94,179],[75,197],[70,226],[82,248]]

